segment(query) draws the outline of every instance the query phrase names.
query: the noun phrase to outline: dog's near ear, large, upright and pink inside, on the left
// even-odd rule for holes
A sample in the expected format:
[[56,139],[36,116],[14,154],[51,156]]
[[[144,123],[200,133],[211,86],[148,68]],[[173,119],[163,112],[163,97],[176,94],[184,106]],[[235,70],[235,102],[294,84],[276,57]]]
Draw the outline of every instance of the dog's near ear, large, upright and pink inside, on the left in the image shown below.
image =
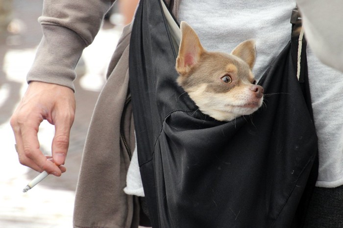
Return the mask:
[[180,29],[181,42],[179,54],[176,59],[176,70],[180,74],[186,74],[199,61],[204,48],[201,46],[196,32],[189,24],[181,21]]

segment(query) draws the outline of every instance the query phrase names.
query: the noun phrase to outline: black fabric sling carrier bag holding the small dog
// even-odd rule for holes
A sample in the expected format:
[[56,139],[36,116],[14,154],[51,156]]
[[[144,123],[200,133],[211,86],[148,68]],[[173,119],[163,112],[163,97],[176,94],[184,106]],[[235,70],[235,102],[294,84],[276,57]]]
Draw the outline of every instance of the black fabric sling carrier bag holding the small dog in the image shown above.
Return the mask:
[[299,227],[316,181],[318,149],[306,51],[300,83],[294,40],[259,82],[271,94],[266,105],[251,116],[215,121],[175,82],[177,53],[161,7],[160,0],[140,1],[129,55],[152,227]]

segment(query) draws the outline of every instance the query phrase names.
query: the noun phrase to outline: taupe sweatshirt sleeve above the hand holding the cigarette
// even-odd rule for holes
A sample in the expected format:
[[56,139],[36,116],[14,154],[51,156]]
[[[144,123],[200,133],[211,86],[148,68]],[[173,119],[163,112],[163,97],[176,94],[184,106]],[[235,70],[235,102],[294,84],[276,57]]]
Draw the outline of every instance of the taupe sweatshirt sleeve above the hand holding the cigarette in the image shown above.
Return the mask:
[[97,35],[114,0],[44,0],[39,17],[43,38],[27,82],[55,83],[74,90],[74,68]]

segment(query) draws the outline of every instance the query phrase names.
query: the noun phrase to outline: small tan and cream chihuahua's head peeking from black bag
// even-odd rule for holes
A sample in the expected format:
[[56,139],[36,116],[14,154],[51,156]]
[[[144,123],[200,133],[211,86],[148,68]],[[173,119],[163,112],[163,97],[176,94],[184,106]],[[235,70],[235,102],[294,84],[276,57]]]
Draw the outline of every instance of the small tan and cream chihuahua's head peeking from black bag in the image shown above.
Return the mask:
[[180,24],[181,43],[176,59],[177,83],[204,114],[231,121],[255,112],[263,103],[263,88],[251,72],[255,41],[240,43],[231,54],[206,51],[193,28]]

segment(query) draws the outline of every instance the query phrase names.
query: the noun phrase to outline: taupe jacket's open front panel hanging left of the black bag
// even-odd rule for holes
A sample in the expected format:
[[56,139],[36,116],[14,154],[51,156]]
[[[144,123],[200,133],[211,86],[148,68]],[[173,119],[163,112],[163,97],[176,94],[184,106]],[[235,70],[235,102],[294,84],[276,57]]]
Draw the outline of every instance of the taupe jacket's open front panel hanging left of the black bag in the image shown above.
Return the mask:
[[124,135],[133,151],[131,103],[124,110],[124,103],[130,96],[127,92],[130,34],[131,26],[127,25],[93,113],[76,189],[74,227],[138,227],[138,199],[123,192],[130,158],[120,132],[124,115]]

